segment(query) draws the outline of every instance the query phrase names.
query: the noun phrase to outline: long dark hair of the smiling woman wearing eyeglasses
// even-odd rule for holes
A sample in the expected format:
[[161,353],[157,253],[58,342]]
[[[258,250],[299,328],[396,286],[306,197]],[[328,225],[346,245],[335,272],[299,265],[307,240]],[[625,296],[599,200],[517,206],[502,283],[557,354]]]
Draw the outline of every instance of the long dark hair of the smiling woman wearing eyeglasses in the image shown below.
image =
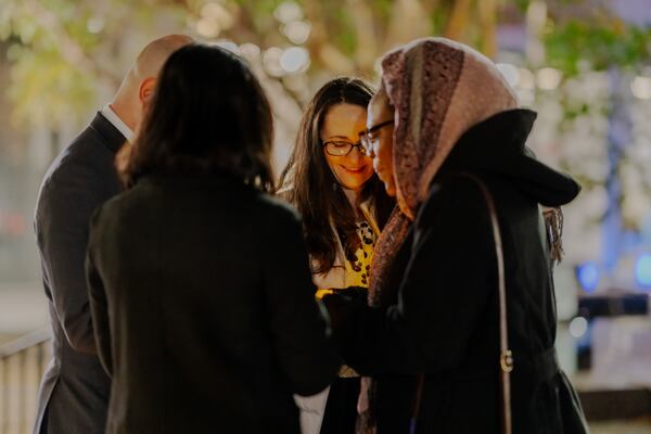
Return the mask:
[[[334,265],[337,251],[335,237],[342,240],[346,256],[355,253],[360,245],[355,225],[356,210],[328,166],[321,128],[332,106],[346,103],[366,110],[372,95],[372,88],[359,78],[341,77],[327,82],[303,115],[294,151],[281,175],[280,189],[284,191],[284,197],[303,216],[307,248],[318,264],[314,272],[328,272]],[[374,174],[365,184],[359,202],[371,196],[382,228],[394,201],[386,195],[384,186]],[[331,219],[337,233],[332,232]]]

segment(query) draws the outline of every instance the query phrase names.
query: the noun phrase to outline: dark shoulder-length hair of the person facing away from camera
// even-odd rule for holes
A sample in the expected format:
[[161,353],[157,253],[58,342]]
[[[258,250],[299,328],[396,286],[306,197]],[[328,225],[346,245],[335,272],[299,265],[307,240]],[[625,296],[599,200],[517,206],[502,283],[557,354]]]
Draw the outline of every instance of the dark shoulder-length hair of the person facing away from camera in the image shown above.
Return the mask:
[[120,175],[128,188],[146,175],[229,174],[271,192],[272,140],[269,101],[246,63],[192,43],[163,66]]

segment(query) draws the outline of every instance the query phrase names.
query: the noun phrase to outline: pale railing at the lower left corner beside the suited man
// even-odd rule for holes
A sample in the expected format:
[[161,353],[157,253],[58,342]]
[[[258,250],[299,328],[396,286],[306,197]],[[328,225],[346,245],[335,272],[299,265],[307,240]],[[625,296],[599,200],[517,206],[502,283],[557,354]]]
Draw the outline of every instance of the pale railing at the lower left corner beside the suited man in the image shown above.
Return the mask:
[[0,434],[27,434],[36,414],[37,393],[51,358],[50,328],[0,345]]

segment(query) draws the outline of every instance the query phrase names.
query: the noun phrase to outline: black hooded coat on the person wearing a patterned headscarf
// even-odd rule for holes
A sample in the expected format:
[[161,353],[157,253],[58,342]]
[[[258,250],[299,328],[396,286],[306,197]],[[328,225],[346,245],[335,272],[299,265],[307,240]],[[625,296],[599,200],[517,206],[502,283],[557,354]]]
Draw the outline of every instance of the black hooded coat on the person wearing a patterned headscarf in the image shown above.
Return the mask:
[[460,139],[387,275],[395,290],[381,307],[344,316],[344,360],[375,380],[370,406],[378,434],[409,432],[418,373],[425,374],[418,433],[499,432],[495,244],[482,192],[462,171],[482,178],[497,204],[514,355],[513,433],[587,430],[556,360],[556,301],[539,210],[570,202],[578,186],[524,146],[534,119],[529,111],[505,112]]

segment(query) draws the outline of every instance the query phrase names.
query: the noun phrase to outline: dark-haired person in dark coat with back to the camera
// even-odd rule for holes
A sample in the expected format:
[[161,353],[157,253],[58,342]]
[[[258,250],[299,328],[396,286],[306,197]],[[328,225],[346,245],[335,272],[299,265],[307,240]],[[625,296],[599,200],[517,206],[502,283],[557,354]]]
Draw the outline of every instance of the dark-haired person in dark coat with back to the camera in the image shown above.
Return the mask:
[[296,214],[272,192],[272,116],[238,55],[165,64],[87,272],[107,433],[298,434],[292,394],[339,369]]

